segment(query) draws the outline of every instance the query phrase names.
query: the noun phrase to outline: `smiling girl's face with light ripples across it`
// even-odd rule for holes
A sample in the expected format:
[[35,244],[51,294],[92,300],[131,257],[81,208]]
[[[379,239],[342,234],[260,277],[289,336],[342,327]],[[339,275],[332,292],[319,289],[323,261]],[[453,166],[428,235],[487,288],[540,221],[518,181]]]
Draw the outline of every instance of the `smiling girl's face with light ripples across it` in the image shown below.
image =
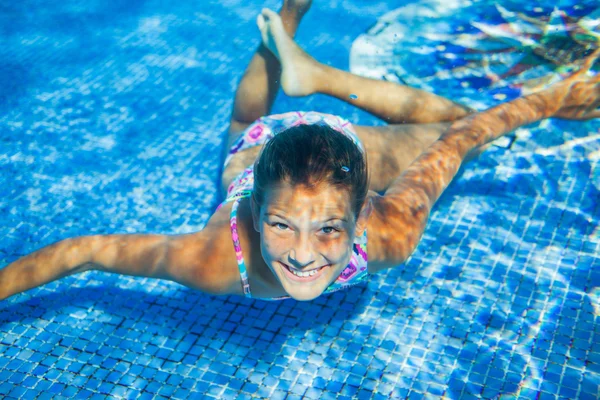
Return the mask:
[[291,297],[312,300],[348,265],[368,216],[357,221],[348,192],[327,184],[282,183],[265,194],[262,207],[252,207],[263,259]]

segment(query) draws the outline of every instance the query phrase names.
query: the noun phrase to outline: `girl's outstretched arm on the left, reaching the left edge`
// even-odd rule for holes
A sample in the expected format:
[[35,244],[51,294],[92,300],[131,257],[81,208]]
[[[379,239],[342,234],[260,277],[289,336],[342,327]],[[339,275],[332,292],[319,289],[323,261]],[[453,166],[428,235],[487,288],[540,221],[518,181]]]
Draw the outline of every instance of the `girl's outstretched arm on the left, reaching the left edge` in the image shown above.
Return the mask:
[[62,240],[0,269],[0,300],[89,270],[168,279],[212,294],[236,293],[239,276],[236,270],[226,268],[229,263],[214,243],[218,231],[218,227],[207,226],[201,232],[180,236],[132,234]]

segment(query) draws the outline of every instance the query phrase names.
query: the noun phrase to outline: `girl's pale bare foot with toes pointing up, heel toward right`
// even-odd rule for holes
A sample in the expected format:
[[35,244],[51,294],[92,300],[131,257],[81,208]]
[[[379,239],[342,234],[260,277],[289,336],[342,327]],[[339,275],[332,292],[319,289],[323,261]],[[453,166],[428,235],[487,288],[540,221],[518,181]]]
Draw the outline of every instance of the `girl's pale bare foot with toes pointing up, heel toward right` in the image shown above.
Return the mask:
[[[296,1],[295,3],[300,2]],[[310,6],[310,2],[308,3]],[[281,17],[265,8],[258,16],[256,23],[260,29],[263,44],[281,64],[281,88],[285,94],[307,96],[315,93],[316,73],[320,64],[288,36]]]

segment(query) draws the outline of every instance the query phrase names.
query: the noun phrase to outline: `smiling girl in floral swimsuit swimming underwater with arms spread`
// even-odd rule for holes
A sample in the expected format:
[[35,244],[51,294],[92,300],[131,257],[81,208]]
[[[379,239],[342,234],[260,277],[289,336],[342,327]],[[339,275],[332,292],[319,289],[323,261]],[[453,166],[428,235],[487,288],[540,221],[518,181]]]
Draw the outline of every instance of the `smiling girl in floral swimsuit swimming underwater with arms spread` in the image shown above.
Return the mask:
[[[600,76],[587,75],[598,52],[541,92],[473,113],[318,63],[292,39],[309,7],[288,0],[279,15],[258,17],[263,44],[235,95],[226,200],[202,231],[60,241],[1,269],[0,299],[92,269],[212,294],[314,299],[405,261],[434,203],[482,146],[544,118],[600,117]],[[389,125],[316,112],[268,116],[280,85],[290,96],[334,96]]]

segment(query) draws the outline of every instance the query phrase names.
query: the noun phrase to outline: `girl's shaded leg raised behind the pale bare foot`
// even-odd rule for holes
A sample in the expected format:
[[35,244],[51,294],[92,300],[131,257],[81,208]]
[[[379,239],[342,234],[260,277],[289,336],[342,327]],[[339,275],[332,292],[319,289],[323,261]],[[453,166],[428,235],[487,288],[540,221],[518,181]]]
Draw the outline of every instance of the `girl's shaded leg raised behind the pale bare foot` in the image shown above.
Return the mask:
[[[282,29],[290,37],[294,37],[311,2],[312,0],[284,0],[279,14]],[[227,149],[237,133],[270,112],[279,90],[280,75],[279,61],[261,44],[250,60],[235,93]]]

